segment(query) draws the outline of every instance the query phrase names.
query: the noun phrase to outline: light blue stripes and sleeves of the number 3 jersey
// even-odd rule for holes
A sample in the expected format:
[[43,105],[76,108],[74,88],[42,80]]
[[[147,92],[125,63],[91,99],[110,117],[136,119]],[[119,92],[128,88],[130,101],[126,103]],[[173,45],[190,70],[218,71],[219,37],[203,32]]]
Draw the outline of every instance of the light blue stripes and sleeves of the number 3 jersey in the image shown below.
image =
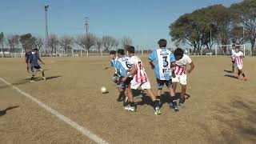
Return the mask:
[[[162,51],[166,51],[166,48],[162,48]],[[158,54],[157,54],[157,50],[154,50],[150,56],[149,56],[150,61],[154,62],[154,74],[155,77],[160,79],[160,74],[159,74],[159,66],[158,66]],[[171,53],[170,54],[170,62],[175,62],[175,58],[174,58],[174,54]],[[171,74],[170,76],[166,76],[166,80],[169,80],[171,78]]]

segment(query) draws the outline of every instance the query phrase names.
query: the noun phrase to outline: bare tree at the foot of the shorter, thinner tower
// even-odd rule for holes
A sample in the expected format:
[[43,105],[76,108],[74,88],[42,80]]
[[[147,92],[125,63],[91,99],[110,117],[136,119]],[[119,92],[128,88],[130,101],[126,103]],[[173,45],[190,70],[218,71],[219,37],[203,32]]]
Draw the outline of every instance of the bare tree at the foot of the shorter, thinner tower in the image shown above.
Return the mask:
[[81,46],[83,49],[89,51],[90,47],[95,45],[96,37],[94,34],[78,35],[75,42],[78,44],[78,46]]

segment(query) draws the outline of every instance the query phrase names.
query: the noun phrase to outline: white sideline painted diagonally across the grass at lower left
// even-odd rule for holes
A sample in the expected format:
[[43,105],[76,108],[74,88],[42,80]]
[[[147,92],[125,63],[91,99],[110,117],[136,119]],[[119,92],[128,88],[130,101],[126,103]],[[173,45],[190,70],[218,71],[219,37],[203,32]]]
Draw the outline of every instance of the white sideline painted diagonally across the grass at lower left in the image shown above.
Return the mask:
[[30,100],[32,100],[33,102],[36,102],[39,106],[41,106],[42,108],[46,109],[47,111],[49,111],[51,114],[54,114],[56,117],[58,117],[60,120],[62,120],[63,122],[66,122],[66,124],[72,126],[74,129],[78,130],[79,132],[81,132],[82,134],[86,135],[86,137],[90,138],[91,140],[93,140],[94,142],[97,143],[104,143],[104,144],[108,144],[108,142],[106,142],[105,140],[103,140],[102,138],[99,138],[96,134],[93,134],[90,132],[90,130],[87,130],[85,127],[79,126],[78,123],[72,121],[70,118],[67,118],[66,116],[58,113],[58,111],[50,108],[50,106],[46,106],[46,104],[38,101],[37,98],[32,97],[30,94],[27,94],[25,92],[23,92],[22,90],[20,90],[17,86],[13,86],[10,82],[7,82],[5,79],[0,78],[0,80],[4,83],[6,83],[6,85],[11,86],[14,90],[17,90],[20,94],[24,95],[26,98],[30,98]]

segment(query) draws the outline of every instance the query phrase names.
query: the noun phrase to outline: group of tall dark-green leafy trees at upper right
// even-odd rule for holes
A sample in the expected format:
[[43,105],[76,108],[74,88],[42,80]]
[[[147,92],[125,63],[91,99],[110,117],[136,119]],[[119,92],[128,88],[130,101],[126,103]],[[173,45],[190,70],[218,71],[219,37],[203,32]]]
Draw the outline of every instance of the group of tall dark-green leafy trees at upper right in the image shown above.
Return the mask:
[[[251,44],[255,47],[256,39],[256,1],[244,0],[230,7],[222,5],[207,6],[183,14],[171,23],[170,36],[172,41],[193,46],[200,51],[206,48],[211,51],[214,44],[230,43]],[[226,54],[226,47],[222,47]]]

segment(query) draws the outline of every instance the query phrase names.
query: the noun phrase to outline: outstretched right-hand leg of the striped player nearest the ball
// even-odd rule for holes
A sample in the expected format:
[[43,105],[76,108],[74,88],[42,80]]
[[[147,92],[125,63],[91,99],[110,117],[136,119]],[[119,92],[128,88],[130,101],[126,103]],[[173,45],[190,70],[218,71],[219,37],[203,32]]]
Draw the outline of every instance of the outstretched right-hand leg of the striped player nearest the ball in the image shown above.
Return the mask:
[[151,90],[150,82],[142,83],[141,85],[143,90],[146,90],[146,92],[149,94],[154,107],[154,114],[162,114],[160,110],[160,102],[157,100],[156,96],[154,95],[153,91]]

